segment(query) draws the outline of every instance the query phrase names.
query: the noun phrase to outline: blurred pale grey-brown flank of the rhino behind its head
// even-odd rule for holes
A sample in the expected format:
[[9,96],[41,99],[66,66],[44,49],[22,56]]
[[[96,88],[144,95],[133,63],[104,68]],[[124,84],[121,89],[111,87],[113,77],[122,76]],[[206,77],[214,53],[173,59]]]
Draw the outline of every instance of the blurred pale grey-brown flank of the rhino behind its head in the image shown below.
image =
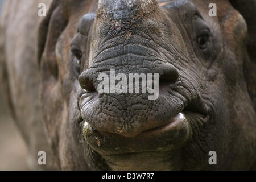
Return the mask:
[[[43,129],[39,109],[39,65],[36,61],[38,4],[50,7],[51,0],[5,2],[0,19],[0,72],[11,115],[18,125],[29,152],[31,167],[55,168]],[[38,165],[38,152],[47,153],[47,165]]]

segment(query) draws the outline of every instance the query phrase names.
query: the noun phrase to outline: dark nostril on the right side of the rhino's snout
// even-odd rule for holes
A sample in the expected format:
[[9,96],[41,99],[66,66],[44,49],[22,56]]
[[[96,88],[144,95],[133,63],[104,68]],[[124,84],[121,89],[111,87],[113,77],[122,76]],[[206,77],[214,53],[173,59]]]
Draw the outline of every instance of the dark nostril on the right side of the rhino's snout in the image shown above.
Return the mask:
[[176,68],[168,67],[164,68],[163,75],[160,75],[159,85],[174,84],[179,78],[179,73]]

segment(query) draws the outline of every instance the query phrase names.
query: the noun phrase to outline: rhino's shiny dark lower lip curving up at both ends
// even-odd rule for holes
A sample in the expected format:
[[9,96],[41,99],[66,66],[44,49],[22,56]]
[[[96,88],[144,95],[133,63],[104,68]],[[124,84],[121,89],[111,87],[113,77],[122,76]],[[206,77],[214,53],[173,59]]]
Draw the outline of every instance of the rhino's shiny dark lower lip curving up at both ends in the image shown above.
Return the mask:
[[[86,121],[83,126],[83,134],[86,144],[89,144],[94,150],[100,154],[113,155],[144,150],[153,151],[157,148],[163,148],[167,151],[173,150],[183,144],[189,138],[191,132],[184,113],[179,113],[167,125],[144,131],[135,137],[123,137],[118,134],[99,132],[93,130]],[[113,148],[121,148],[121,150],[114,151]]]

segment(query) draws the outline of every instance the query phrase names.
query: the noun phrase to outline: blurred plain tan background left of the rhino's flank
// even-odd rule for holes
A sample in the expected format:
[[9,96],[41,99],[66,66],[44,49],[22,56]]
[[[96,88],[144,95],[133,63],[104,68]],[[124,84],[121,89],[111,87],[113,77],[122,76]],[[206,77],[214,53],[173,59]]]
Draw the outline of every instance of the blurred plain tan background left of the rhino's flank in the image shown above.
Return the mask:
[[[0,0],[0,14],[5,0]],[[27,170],[26,145],[3,99],[0,83],[0,170]]]

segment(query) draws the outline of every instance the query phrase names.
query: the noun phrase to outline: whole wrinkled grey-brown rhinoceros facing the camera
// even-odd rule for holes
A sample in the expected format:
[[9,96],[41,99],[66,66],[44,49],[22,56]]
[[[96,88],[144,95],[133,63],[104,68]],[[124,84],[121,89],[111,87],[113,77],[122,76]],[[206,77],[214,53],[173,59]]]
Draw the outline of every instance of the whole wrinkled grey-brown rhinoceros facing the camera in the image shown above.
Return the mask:
[[[46,18],[38,3],[8,1],[0,30],[6,98],[34,167],[44,150],[70,170],[255,169],[254,0],[56,0]],[[98,94],[112,68],[159,73],[159,98]]]

